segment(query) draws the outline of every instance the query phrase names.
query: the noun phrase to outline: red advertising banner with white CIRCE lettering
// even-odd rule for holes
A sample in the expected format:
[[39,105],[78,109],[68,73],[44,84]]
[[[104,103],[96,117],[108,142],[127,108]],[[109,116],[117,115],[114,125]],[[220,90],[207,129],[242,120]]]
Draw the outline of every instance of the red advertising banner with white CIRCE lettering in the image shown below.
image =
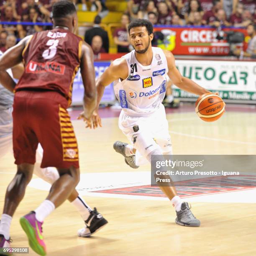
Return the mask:
[[[230,44],[225,40],[227,31],[241,32],[246,38],[245,28],[216,28],[205,27],[155,27],[154,31],[161,31],[164,40],[158,40],[158,46],[172,51],[176,55],[228,55]],[[221,36],[224,39],[218,40]],[[246,38],[247,39],[247,38]],[[246,49],[244,42],[238,46]]]

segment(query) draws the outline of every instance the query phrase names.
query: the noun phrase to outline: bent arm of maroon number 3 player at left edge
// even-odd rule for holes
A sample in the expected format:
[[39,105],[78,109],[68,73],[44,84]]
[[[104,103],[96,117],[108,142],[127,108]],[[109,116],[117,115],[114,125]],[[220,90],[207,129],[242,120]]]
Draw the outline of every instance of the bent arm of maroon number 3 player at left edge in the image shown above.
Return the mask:
[[22,51],[28,44],[32,36],[27,36],[20,40],[18,44],[5,51],[0,57],[0,83],[9,91],[13,92],[15,82],[6,72],[6,69],[18,65],[22,61]]

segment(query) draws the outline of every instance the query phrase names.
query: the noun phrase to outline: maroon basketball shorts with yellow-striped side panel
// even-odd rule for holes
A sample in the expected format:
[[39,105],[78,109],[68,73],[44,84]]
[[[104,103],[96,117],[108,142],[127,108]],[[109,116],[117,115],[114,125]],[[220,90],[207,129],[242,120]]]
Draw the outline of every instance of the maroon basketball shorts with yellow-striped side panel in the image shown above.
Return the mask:
[[77,139],[67,112],[67,100],[58,92],[18,91],[13,104],[15,164],[34,164],[36,148],[44,149],[41,168],[79,168]]

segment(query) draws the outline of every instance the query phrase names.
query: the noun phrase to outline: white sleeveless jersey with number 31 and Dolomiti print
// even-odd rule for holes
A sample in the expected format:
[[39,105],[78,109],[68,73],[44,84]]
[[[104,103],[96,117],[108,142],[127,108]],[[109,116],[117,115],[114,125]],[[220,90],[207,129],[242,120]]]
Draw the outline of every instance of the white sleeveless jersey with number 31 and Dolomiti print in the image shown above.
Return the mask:
[[128,64],[126,79],[115,84],[115,95],[123,111],[131,115],[153,113],[164,99],[168,66],[162,49],[152,47],[151,65],[141,65],[135,50],[123,56]]

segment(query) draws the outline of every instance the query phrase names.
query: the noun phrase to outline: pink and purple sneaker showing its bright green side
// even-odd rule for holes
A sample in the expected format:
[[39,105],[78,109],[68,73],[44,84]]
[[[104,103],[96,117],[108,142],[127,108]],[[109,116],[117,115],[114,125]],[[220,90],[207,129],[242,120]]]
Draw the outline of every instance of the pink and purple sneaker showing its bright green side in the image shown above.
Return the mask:
[[36,220],[36,213],[30,212],[20,218],[20,225],[25,231],[29,246],[39,255],[46,255],[46,245],[42,235],[43,223]]

